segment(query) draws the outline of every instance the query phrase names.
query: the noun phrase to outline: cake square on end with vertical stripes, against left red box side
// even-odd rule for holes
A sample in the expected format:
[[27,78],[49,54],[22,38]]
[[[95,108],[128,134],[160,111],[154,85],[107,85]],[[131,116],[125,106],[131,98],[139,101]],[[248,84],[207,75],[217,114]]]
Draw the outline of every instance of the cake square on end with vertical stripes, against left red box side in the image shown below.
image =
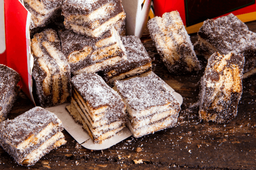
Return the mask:
[[31,40],[34,56],[32,76],[36,94],[42,107],[50,107],[70,101],[70,66],[61,51],[57,32],[46,29]]

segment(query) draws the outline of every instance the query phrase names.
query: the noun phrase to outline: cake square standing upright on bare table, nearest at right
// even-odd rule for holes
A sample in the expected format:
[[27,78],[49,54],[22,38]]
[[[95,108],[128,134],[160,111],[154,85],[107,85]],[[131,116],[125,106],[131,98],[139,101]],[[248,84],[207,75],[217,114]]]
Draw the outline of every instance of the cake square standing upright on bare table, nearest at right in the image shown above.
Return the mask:
[[243,67],[242,54],[212,54],[201,79],[200,119],[228,123],[236,116],[242,94]]

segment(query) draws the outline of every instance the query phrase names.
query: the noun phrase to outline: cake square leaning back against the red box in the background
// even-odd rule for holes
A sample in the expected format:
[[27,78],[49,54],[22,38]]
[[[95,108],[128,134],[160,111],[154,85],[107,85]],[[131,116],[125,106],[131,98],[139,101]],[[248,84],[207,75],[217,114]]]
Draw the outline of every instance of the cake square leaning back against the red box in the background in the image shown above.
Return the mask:
[[198,71],[200,63],[178,11],[148,21],[150,36],[170,73]]

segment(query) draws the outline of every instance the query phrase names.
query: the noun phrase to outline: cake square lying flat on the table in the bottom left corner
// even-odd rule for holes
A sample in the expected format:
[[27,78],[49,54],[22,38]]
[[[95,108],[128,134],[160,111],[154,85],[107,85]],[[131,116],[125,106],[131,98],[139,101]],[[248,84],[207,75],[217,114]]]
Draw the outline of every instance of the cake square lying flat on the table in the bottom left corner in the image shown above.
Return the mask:
[[66,144],[62,130],[62,123],[54,113],[35,107],[0,123],[0,145],[18,164],[30,166]]

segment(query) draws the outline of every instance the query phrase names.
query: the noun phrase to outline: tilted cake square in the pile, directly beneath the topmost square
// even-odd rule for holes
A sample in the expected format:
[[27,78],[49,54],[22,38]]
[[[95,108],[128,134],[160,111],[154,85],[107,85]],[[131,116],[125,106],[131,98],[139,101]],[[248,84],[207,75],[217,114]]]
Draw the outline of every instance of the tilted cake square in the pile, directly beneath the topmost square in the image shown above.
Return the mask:
[[96,39],[67,29],[58,33],[73,75],[95,73],[126,59],[125,47],[115,28]]

